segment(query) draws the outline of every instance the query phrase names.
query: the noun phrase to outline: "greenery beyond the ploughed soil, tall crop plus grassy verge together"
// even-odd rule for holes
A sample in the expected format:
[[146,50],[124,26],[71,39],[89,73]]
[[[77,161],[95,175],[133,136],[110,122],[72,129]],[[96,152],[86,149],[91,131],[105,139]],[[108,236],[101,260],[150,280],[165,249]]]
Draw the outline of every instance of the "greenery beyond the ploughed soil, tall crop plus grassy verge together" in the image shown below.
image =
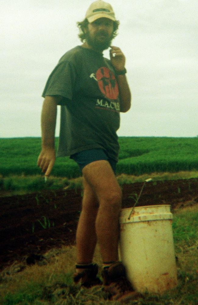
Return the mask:
[[[56,148],[58,138],[55,139]],[[198,177],[198,138],[120,137],[119,184]],[[37,167],[41,138],[0,138],[0,191],[80,188],[81,173],[69,157],[57,158],[45,182]],[[189,186],[190,187],[190,186]],[[179,192],[179,190],[178,190]]]

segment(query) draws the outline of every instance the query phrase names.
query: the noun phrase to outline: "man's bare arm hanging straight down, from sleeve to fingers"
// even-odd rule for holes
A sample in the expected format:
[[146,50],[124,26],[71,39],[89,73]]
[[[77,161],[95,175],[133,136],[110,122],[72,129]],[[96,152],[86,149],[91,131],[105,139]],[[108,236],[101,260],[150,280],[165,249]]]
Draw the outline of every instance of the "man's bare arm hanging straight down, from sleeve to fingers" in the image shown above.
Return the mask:
[[41,153],[37,165],[48,176],[55,163],[55,127],[57,104],[62,97],[46,96],[41,112]]

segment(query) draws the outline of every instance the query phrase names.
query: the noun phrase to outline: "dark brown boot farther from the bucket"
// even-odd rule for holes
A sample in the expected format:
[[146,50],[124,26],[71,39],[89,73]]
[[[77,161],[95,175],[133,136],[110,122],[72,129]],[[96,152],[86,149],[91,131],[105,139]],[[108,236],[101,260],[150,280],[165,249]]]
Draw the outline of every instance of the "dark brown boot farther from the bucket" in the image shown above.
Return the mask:
[[80,273],[74,273],[73,280],[75,284],[79,283],[84,287],[92,287],[95,285],[102,285],[102,282],[99,278],[97,278],[98,273],[98,265],[92,264],[90,267],[82,269]]

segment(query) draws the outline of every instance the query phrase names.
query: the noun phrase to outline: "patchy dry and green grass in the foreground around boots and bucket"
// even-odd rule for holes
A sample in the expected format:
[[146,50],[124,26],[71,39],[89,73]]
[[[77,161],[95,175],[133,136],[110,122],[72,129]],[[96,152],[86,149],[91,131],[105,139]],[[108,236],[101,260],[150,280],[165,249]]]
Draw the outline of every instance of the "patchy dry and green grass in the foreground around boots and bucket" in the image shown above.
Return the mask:
[[[197,230],[198,206],[174,212],[173,235],[175,254],[178,257],[178,285],[163,295],[146,293],[128,304],[137,305],[197,305],[198,257]],[[51,249],[45,254],[47,264],[27,266],[21,272],[16,265],[0,274],[1,305],[118,305],[109,301],[101,287],[91,289],[73,285],[75,246]],[[98,247],[94,261],[101,265]],[[100,269],[101,272],[101,269]],[[10,275],[9,275],[10,274]]]

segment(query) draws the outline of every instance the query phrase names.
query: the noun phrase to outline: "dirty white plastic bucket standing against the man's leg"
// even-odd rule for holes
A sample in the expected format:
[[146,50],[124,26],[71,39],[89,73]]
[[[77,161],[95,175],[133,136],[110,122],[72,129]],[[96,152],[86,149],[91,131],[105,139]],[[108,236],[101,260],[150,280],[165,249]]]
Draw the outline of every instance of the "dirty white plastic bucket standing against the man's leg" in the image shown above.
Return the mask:
[[169,205],[122,209],[120,259],[139,292],[162,293],[177,285],[177,268]]

